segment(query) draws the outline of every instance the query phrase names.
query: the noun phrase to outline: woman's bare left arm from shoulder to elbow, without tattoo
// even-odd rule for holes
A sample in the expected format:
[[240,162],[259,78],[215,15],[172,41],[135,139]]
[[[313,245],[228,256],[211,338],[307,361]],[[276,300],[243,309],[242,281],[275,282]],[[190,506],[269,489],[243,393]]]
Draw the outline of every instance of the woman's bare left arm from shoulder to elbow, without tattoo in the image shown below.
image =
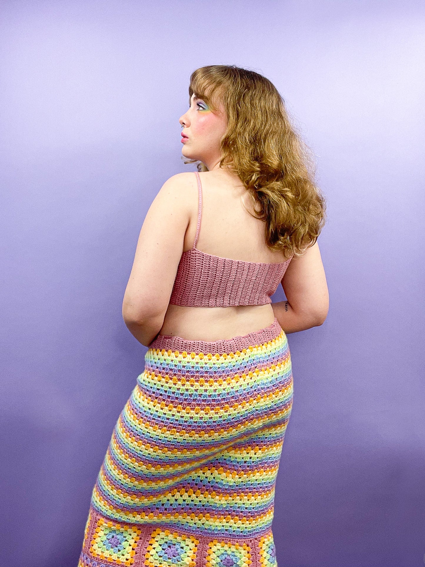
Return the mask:
[[165,181],[147,211],[122,302],[130,333],[148,346],[164,323],[189,225],[188,202],[196,177],[177,174]]

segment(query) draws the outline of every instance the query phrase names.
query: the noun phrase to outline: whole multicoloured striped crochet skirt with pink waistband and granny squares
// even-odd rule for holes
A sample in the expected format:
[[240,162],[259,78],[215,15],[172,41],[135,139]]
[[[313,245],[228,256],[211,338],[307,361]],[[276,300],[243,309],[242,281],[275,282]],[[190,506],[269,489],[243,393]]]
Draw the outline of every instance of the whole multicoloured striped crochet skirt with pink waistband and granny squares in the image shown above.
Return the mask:
[[158,335],[93,489],[78,567],[276,567],[288,342]]

